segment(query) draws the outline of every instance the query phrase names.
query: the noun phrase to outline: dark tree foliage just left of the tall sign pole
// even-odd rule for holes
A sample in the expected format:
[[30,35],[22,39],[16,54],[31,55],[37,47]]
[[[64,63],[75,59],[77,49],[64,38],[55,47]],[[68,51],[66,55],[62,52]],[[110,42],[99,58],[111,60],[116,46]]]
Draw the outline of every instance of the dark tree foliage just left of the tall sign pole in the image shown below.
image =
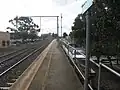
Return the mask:
[[85,46],[85,21],[82,14],[78,14],[78,16],[75,18],[71,29],[71,38],[73,38],[77,44]]

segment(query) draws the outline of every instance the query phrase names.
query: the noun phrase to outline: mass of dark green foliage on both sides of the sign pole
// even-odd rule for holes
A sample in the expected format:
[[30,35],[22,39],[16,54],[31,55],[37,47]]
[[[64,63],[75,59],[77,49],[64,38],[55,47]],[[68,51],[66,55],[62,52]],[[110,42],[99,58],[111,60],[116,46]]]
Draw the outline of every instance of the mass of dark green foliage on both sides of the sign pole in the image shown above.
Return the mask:
[[[95,0],[90,9],[92,55],[115,56],[120,53],[120,0]],[[70,36],[85,45],[85,15],[79,14]],[[84,44],[83,44],[84,43]]]

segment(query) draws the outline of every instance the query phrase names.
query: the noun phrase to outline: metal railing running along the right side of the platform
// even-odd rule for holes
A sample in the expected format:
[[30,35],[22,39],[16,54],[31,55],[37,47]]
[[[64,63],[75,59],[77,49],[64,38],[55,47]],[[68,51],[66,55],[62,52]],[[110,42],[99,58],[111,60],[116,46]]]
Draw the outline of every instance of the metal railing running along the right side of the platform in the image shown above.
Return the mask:
[[[62,47],[63,47],[65,53],[67,54],[67,56],[70,58],[71,62],[73,63],[75,69],[79,72],[79,74],[81,75],[81,77],[85,80],[84,74],[81,72],[81,70],[79,69],[79,67],[78,67],[77,64],[76,64],[76,59],[77,59],[77,58],[76,58],[76,52],[77,52],[77,49],[74,48],[74,47],[72,47],[72,46],[70,46],[69,44],[67,44],[67,43],[66,43],[65,41],[63,41],[63,40],[60,40],[60,41],[62,42]],[[73,59],[73,57],[71,57],[71,55],[70,55],[70,54],[73,54],[73,53],[71,52],[71,51],[73,51],[73,50],[74,50],[74,54],[75,54],[75,55],[73,55],[74,59]],[[84,53],[81,52],[81,54],[85,56]],[[86,57],[86,56],[85,56],[85,57]],[[105,64],[103,64],[103,63],[101,62],[101,60],[100,60],[100,63],[98,64],[98,63],[96,63],[95,61],[93,61],[92,58],[90,58],[90,62],[92,62],[94,65],[96,65],[96,66],[99,68],[99,72],[98,72],[98,87],[97,87],[97,90],[100,90],[101,67],[102,67],[102,68],[105,68],[106,70],[109,70],[111,73],[113,73],[113,74],[116,75],[117,77],[120,77],[120,73],[118,73],[117,71],[115,71],[115,70],[113,70],[112,68],[110,68],[110,67],[106,66]],[[93,88],[91,87],[90,84],[89,84],[88,86],[89,86],[89,89],[90,89],[90,90],[93,90]]]

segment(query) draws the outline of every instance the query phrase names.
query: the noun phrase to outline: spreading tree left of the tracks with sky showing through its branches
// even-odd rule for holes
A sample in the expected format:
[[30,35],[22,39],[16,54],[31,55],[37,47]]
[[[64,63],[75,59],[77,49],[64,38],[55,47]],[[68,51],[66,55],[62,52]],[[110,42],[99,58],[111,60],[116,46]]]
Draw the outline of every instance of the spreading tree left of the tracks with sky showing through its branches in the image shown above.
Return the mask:
[[14,19],[9,20],[9,22],[15,27],[15,29],[8,27],[11,31],[15,33],[20,33],[21,38],[26,40],[27,38],[32,37],[31,39],[37,37],[37,33],[40,31],[39,26],[33,22],[31,17],[15,17]]

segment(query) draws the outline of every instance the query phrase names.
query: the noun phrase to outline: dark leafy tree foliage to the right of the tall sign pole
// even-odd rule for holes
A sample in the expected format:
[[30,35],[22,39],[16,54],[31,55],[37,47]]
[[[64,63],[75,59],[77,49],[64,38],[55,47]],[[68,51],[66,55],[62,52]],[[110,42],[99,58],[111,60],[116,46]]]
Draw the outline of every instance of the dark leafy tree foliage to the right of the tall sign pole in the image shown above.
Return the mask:
[[95,22],[92,50],[98,58],[105,55],[110,60],[119,53],[119,8],[120,1],[96,0],[91,10]]

